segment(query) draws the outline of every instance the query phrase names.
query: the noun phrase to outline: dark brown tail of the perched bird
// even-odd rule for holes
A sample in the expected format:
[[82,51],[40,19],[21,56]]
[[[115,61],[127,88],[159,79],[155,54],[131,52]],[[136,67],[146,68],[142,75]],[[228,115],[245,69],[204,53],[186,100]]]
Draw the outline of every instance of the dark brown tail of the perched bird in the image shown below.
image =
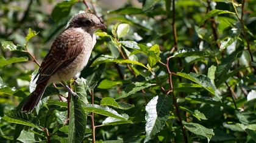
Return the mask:
[[37,106],[38,102],[43,96],[44,90],[47,86],[47,82],[43,81],[39,84],[37,84],[37,87],[35,87],[35,91],[33,91],[29,98],[27,99],[26,103],[22,107],[22,111],[29,113],[30,111],[34,110],[34,108]]

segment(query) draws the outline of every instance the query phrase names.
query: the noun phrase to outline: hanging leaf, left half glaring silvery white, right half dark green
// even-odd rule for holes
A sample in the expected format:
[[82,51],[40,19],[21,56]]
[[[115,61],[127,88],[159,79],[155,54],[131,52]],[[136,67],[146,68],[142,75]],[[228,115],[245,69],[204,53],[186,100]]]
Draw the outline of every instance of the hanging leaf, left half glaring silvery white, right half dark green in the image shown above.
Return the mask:
[[169,117],[169,111],[172,110],[171,96],[155,96],[146,105],[146,138],[148,142],[152,136],[158,133],[165,126]]

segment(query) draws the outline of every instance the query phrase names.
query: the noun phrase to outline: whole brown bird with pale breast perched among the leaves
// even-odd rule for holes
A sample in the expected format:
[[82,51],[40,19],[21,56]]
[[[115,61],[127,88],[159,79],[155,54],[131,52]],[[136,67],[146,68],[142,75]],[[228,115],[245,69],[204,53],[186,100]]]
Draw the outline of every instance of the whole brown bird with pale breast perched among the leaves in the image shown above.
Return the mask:
[[[64,81],[74,78],[82,71],[96,44],[94,33],[100,28],[107,27],[92,13],[78,13],[71,18],[68,26],[55,38],[49,53],[41,62],[35,76],[38,76],[36,88],[23,105],[23,112],[30,113],[34,110],[49,84],[65,84]],[[75,94],[67,85],[65,87],[70,93]]]

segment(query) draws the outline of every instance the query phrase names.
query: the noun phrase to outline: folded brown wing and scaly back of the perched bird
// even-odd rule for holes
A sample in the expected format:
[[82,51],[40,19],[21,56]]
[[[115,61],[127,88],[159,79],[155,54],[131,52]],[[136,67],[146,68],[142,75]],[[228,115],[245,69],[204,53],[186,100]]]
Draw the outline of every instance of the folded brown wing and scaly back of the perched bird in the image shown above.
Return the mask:
[[37,84],[49,79],[54,73],[67,67],[84,48],[84,35],[75,30],[65,30],[54,40],[51,50],[39,68]]

